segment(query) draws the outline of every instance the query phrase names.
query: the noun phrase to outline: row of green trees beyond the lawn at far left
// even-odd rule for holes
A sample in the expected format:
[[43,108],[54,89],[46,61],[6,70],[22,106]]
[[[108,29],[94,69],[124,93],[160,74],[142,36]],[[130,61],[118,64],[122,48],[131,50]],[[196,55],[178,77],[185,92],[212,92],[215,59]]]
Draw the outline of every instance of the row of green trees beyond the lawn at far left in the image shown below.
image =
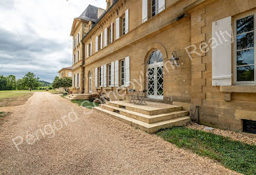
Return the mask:
[[28,72],[22,79],[16,80],[14,75],[0,76],[0,90],[21,90],[38,88],[39,78],[33,72]]

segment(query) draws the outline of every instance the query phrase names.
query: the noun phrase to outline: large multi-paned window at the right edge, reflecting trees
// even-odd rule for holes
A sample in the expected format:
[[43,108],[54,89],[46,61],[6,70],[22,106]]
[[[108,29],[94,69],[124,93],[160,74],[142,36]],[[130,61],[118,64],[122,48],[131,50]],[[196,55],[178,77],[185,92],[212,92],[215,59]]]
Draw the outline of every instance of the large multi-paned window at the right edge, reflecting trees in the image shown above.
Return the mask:
[[255,15],[236,20],[236,82],[256,82]]

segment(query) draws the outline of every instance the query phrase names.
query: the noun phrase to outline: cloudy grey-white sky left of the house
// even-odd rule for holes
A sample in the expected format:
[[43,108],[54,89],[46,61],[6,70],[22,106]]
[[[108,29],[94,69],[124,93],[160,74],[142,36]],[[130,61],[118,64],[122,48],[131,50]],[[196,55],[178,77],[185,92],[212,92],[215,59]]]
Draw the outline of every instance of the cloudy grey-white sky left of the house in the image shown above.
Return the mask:
[[53,82],[72,66],[73,19],[89,4],[106,9],[106,0],[0,0],[0,75]]

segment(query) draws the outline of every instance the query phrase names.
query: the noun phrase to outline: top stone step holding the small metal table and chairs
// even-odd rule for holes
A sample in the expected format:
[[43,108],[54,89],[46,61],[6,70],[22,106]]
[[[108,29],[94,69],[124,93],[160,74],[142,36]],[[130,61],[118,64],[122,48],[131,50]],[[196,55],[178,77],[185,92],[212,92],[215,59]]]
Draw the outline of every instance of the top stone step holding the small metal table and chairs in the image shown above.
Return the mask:
[[165,114],[169,112],[181,111],[182,107],[168,105],[165,103],[153,103],[146,101],[146,105],[134,105],[128,101],[109,101],[108,105],[127,109],[128,111],[139,112],[146,115]]

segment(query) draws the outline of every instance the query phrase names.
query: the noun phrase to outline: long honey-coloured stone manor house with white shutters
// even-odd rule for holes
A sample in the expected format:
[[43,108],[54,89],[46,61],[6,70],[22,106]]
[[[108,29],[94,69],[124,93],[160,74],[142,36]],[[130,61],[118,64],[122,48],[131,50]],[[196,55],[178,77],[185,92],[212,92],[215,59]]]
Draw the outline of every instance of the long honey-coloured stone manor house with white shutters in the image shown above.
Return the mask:
[[73,93],[146,89],[148,101],[198,108],[202,124],[255,133],[255,0],[106,3],[73,21]]

